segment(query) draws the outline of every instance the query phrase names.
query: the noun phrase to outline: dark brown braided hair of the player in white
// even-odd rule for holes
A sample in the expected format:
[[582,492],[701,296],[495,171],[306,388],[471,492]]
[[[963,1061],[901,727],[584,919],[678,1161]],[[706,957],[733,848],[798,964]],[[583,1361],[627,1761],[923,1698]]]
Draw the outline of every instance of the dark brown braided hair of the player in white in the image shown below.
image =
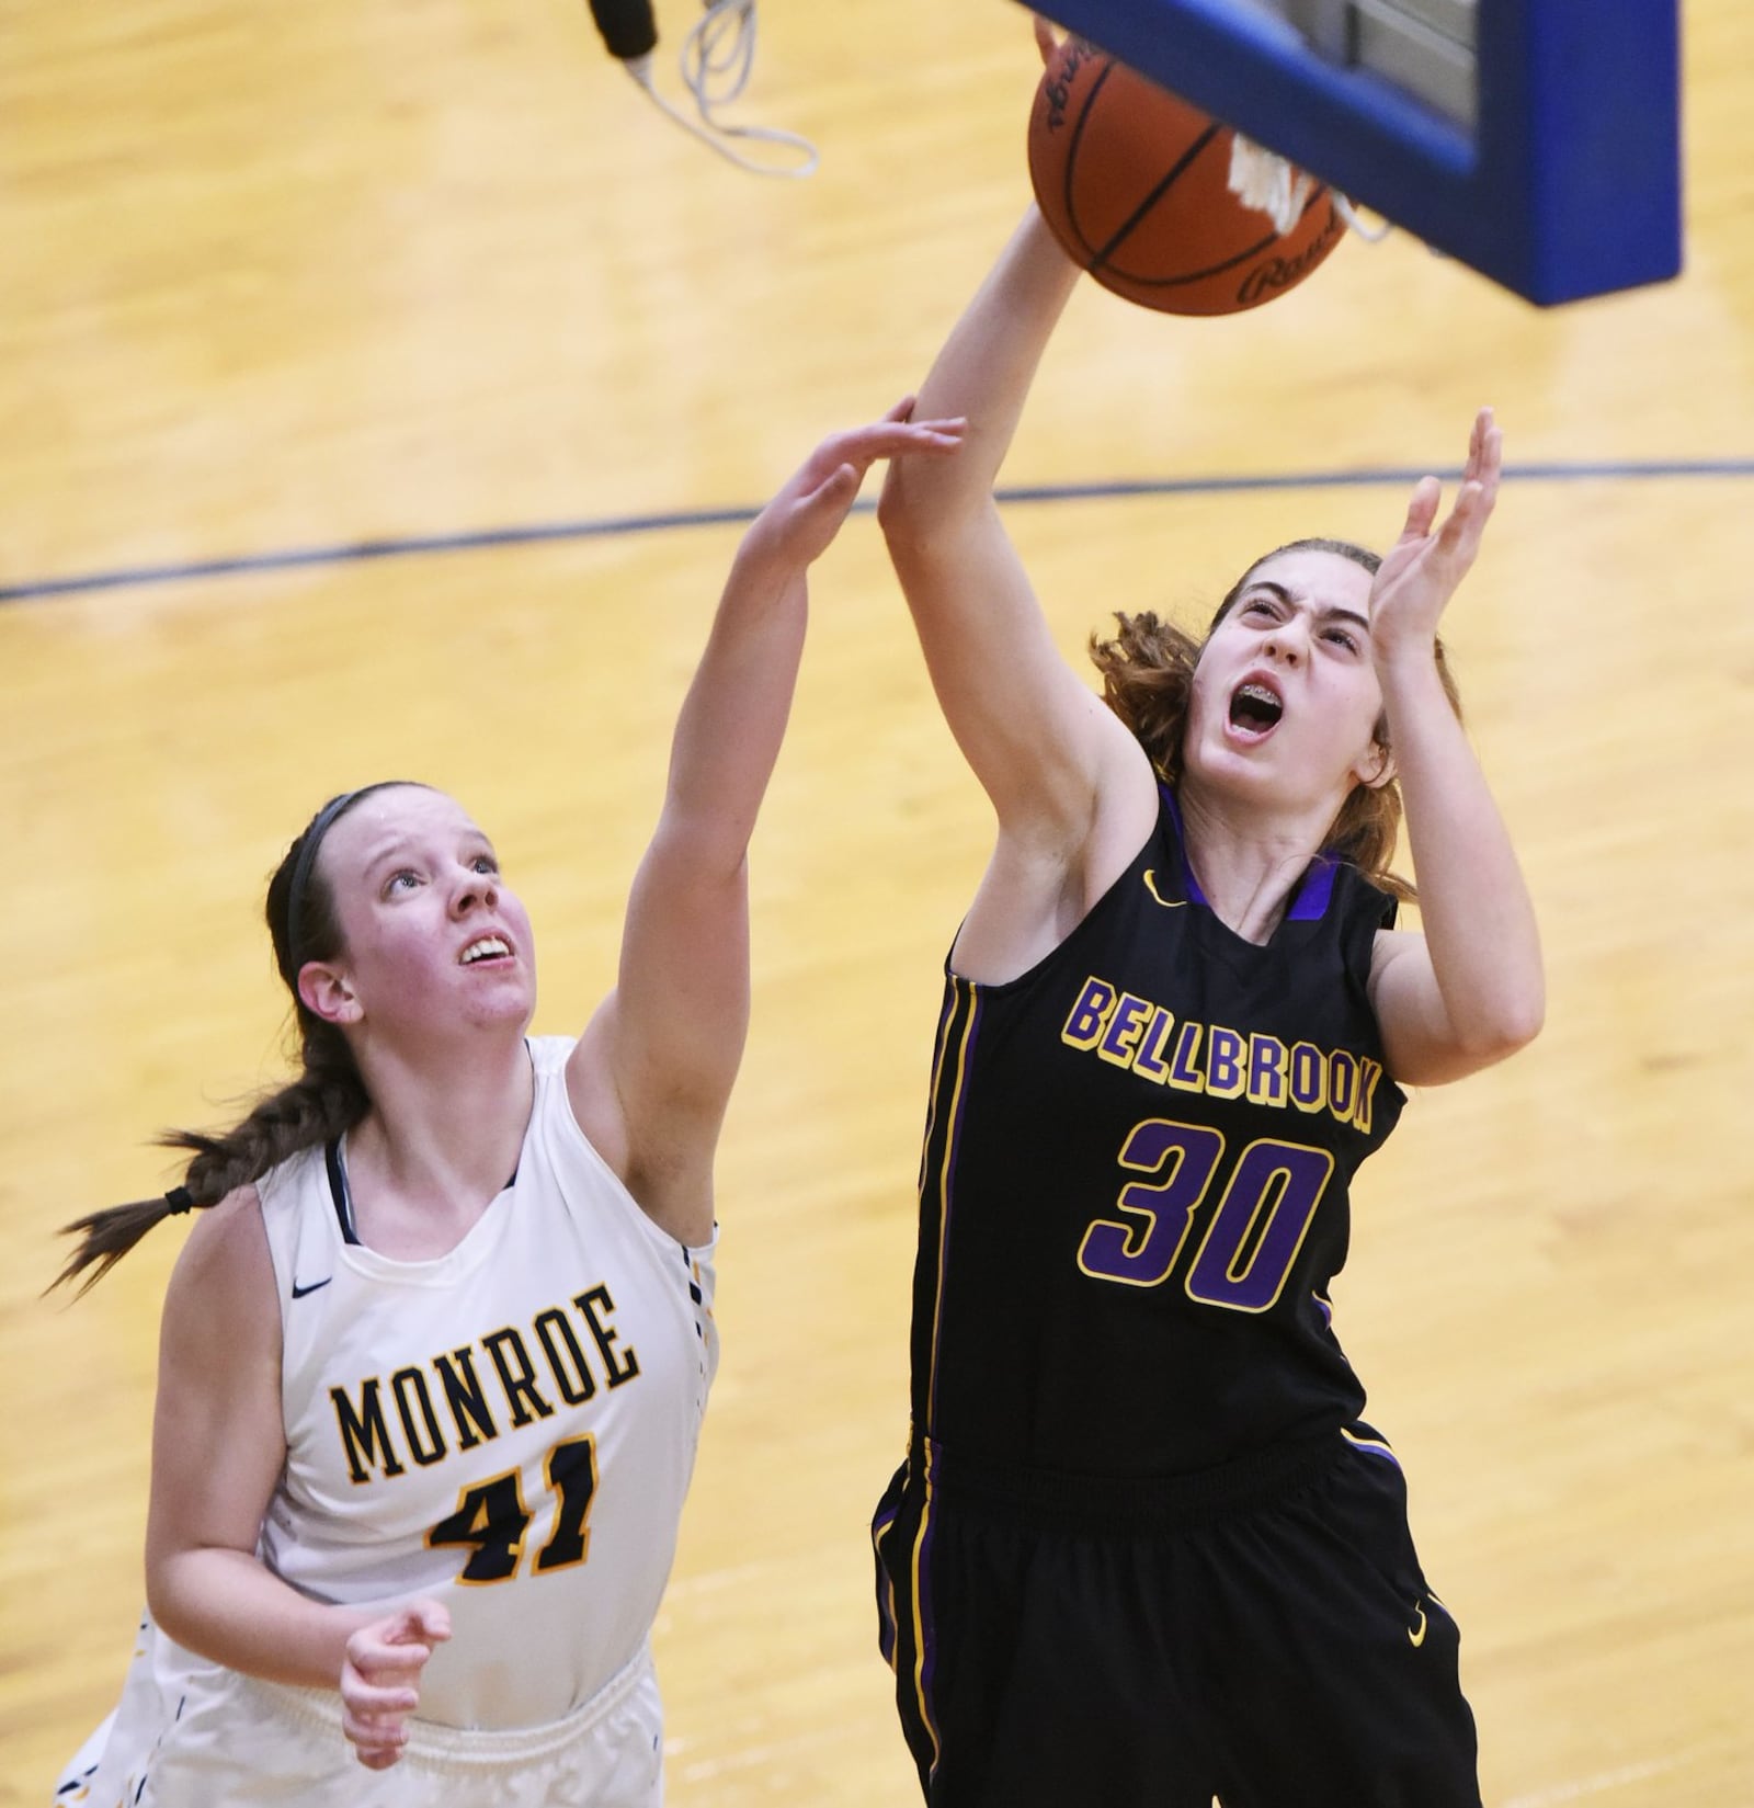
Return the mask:
[[409,781],[385,779],[331,797],[286,850],[268,880],[268,933],[275,947],[275,965],[293,994],[302,1056],[298,1078],[264,1096],[230,1130],[165,1132],[157,1139],[163,1148],[188,1150],[193,1157],[181,1188],[161,1199],[137,1199],[125,1206],[90,1211],[61,1226],[61,1235],[78,1237],[80,1244],[51,1282],[52,1287],[90,1269],[80,1287],[81,1295],[87,1293],[165,1219],[190,1206],[217,1206],[228,1193],[260,1179],[298,1150],[329,1143],[344,1130],[351,1130],[371,1108],[347,1038],[298,996],[298,973],[307,960],[329,960],[342,951],[335,893],[316,871],[316,852],[324,835],[362,797],[401,783]]

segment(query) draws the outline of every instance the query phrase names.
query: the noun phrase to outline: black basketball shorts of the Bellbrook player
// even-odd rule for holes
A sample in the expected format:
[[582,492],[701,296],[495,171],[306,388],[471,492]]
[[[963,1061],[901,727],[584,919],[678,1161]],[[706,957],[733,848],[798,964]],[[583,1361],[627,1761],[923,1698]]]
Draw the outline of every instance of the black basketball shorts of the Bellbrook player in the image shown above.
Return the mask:
[[917,1448],[872,1537],[931,1808],[1479,1808],[1387,1443],[1353,1425],[1210,1483]]

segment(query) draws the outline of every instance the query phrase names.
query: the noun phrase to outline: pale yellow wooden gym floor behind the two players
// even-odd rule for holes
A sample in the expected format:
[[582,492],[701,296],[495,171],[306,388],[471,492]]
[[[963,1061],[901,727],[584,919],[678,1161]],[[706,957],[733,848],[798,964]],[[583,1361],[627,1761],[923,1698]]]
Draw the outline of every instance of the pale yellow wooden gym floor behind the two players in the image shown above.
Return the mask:
[[[1297,533],[1391,539],[1400,483],[1322,476],[1452,466],[1479,401],[1504,423],[1448,636],[1550,1023],[1414,1103],[1338,1291],[1494,1808],[1754,1803],[1754,25],[1685,11],[1680,282],[1544,315],[1392,239],[1240,320],[1090,289],[1007,472],[1311,476],[1016,506],[1076,651],[1108,607],[1199,615]],[[689,18],[660,0],[671,96]],[[539,1027],[582,1023],[738,528],[42,586],[758,503],[926,369],[1025,202],[1033,83],[998,0],[769,0],[738,116],[823,168],[763,183],[664,123],[571,0],[4,9],[0,1804],[45,1801],[121,1680],[179,1242],[72,1307],[40,1298],[54,1228],[165,1184],[156,1128],[278,1072],[259,893],[336,788],[461,796],[542,935]],[[987,815],[868,517],[816,598],[754,853],[725,1360],[658,1629],[678,1808],[913,1795],[864,1524]]]

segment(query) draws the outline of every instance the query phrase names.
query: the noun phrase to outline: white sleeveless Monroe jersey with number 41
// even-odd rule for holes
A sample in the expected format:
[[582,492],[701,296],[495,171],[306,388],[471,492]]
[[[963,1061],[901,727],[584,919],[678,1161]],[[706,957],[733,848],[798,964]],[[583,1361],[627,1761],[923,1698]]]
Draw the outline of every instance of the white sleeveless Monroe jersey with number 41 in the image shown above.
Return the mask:
[[712,1251],[586,1141],[570,1038],[537,1038],[517,1173],[448,1255],[344,1226],[345,1150],[257,1182],[286,1331],[286,1474],[262,1558],[320,1600],[434,1596],[421,1719],[528,1727],[640,1651],[718,1365]]

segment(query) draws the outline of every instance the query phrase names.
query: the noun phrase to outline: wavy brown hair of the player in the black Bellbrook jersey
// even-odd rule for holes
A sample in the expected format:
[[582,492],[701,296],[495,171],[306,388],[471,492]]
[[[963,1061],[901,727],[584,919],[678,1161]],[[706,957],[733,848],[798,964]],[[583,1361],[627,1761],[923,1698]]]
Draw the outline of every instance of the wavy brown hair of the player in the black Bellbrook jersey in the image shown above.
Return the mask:
[[[1193,667],[1199,665],[1206,640],[1235,607],[1237,598],[1248,589],[1249,579],[1269,559],[1298,551],[1334,553],[1340,559],[1351,559],[1372,577],[1382,564],[1382,559],[1367,546],[1354,546],[1351,541],[1291,541],[1257,559],[1237,579],[1206,626],[1206,633],[1197,640],[1148,609],[1137,615],[1117,613],[1114,618],[1117,631],[1112,640],[1090,636],[1090,658],[1103,674],[1103,702],[1127,723],[1172,790],[1181,785]],[[1441,640],[1438,642],[1438,676],[1443,682],[1443,694],[1450,700],[1450,709],[1459,720],[1461,694],[1450,674]],[[1385,716],[1376,720],[1374,741],[1385,752],[1389,750]],[[1356,866],[1371,884],[1380,886],[1391,897],[1412,904],[1418,897],[1412,884],[1389,871],[1400,826],[1401,788],[1394,779],[1376,788],[1354,785],[1327,830],[1325,852]]]

